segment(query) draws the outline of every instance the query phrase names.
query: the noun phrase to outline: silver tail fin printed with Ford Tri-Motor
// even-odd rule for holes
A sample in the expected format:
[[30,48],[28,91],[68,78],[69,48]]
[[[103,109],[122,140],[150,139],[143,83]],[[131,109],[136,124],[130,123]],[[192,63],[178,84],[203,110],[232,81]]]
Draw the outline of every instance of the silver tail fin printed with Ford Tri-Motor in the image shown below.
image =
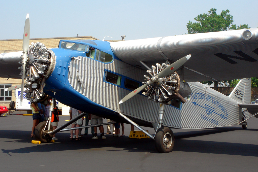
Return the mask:
[[240,79],[237,86],[229,95],[230,98],[239,103],[251,102],[251,78]]

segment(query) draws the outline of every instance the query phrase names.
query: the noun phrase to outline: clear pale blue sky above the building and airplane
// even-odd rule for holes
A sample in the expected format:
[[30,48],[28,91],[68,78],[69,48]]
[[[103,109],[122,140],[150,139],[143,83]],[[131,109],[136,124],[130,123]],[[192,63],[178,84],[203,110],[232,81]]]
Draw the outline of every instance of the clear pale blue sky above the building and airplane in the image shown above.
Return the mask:
[[[0,1],[0,39],[21,39],[26,14],[30,38],[93,36],[125,40],[182,35],[188,21],[211,8],[229,9],[233,24],[258,27],[257,0]],[[107,38],[112,39],[112,38]]]

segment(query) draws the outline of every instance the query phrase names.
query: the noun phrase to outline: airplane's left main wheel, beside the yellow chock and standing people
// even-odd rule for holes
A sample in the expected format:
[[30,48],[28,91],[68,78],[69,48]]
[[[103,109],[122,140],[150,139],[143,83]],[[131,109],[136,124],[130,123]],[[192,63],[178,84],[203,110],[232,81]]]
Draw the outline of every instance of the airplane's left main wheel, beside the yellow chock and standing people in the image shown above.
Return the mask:
[[[37,125],[37,127],[35,128],[35,138],[43,143],[48,143],[52,140],[53,134],[51,135],[45,134],[43,132],[43,129],[45,126],[46,126],[46,121],[41,122]],[[46,126],[45,130],[47,130],[47,127],[48,125]],[[53,131],[52,125],[50,125],[50,131]]]

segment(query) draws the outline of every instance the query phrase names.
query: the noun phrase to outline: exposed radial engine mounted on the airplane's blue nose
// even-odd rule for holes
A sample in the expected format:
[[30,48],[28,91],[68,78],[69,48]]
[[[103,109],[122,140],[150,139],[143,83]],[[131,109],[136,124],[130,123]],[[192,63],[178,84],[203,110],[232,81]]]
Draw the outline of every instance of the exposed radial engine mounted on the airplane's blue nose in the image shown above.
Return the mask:
[[[31,102],[44,99],[43,88],[46,79],[51,75],[55,68],[56,56],[42,43],[31,43],[29,46],[27,64],[25,68],[24,87],[27,88],[25,97]],[[22,56],[21,56],[22,60]],[[19,62],[19,64],[22,64]],[[19,67],[22,75],[22,66]]]

